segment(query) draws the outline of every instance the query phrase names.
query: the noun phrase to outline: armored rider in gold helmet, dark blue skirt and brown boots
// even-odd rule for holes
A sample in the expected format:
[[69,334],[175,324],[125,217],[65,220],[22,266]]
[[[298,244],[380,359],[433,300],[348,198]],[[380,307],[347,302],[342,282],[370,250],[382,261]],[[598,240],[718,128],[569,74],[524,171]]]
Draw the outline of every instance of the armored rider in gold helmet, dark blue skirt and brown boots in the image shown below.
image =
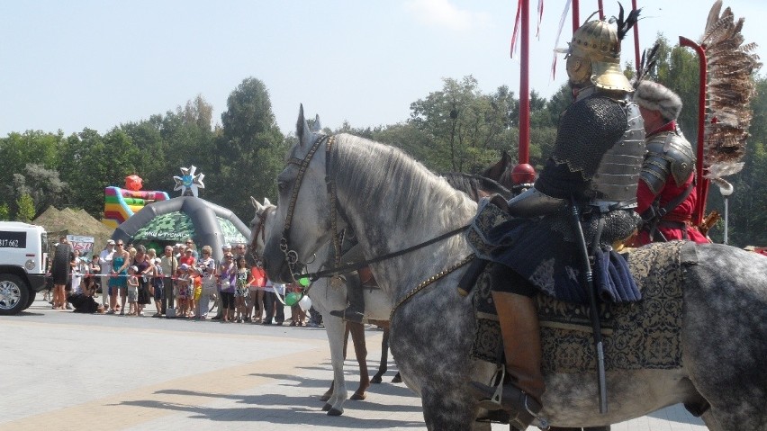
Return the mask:
[[[485,409],[509,411],[512,427],[519,429],[542,409],[545,391],[534,296],[544,292],[562,301],[587,301],[574,275],[583,267],[573,205],[592,252],[630,237],[640,222],[636,187],[645,130],[630,99],[633,87],[619,68],[620,41],[638,11],[625,22],[622,15],[618,22],[586,22],[574,32],[566,57],[574,101],[560,119],[553,154],[526,192],[509,202],[498,197],[483,202],[469,231],[476,255],[491,262],[492,300],[511,376],[500,403],[492,399],[496,388],[483,383],[473,382],[474,396]],[[511,217],[483,225],[498,220],[483,212],[498,213],[504,206]]]

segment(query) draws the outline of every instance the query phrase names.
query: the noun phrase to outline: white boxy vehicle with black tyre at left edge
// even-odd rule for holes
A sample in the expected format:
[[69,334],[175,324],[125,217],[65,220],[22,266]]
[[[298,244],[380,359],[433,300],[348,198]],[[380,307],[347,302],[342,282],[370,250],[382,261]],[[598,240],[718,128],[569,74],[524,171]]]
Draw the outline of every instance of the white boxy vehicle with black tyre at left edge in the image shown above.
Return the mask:
[[17,314],[45,289],[48,234],[41,226],[0,221],[0,315]]

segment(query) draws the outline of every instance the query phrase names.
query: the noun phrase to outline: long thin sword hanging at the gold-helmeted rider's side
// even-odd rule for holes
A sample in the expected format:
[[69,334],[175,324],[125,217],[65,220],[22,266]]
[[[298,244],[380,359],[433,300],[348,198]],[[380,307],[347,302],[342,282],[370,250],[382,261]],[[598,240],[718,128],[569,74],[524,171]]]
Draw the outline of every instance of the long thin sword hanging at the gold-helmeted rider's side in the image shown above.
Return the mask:
[[602,333],[600,328],[600,316],[597,309],[597,293],[594,286],[593,274],[591,274],[591,264],[589,263],[589,251],[586,248],[586,238],[583,237],[583,228],[581,227],[581,215],[578,213],[578,204],[573,202],[573,229],[575,240],[581,248],[583,259],[583,279],[586,289],[589,291],[589,305],[591,312],[591,329],[594,332],[594,348],[597,350],[597,379],[600,385],[600,414],[607,413],[607,382],[605,377],[605,351],[602,346]]

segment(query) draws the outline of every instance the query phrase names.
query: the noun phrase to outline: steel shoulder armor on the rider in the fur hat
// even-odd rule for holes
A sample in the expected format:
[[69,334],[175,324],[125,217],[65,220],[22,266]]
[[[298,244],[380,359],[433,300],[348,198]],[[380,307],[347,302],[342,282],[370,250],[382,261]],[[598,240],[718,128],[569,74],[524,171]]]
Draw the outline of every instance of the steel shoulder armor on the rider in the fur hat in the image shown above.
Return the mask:
[[669,175],[680,186],[695,169],[695,154],[681,132],[669,131],[647,141],[641,179],[653,193],[660,193]]

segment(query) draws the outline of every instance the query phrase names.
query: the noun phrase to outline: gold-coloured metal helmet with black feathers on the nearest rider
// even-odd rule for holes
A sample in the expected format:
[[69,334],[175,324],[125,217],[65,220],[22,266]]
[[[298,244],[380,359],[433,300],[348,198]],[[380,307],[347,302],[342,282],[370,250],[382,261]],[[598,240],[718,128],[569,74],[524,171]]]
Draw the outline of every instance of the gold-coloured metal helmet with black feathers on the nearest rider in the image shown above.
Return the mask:
[[568,54],[591,61],[591,83],[604,90],[633,90],[623,72],[620,71],[620,42],[634,26],[639,10],[628,13],[623,19],[623,6],[618,18],[595,20],[584,23],[573,33]]

